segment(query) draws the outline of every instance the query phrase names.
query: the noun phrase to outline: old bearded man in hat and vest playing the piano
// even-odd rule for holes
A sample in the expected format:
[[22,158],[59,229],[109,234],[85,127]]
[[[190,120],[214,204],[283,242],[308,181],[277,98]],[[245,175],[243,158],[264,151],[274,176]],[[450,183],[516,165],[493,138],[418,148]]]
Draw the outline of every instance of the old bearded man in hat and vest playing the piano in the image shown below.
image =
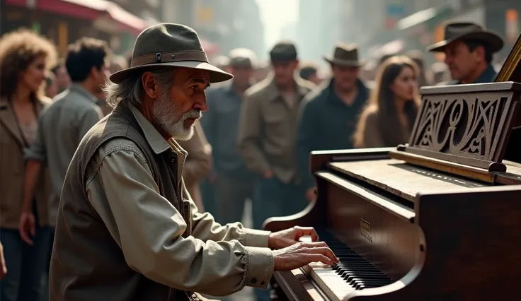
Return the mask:
[[231,78],[208,64],[191,28],[161,23],[137,37],[130,68],[106,88],[114,111],[81,140],[65,177],[50,300],[198,300],[191,292],[265,288],[274,270],[337,260],[324,242],[297,243],[316,240],[312,228],[270,233],[197,212],[176,139],[207,110],[205,88]]

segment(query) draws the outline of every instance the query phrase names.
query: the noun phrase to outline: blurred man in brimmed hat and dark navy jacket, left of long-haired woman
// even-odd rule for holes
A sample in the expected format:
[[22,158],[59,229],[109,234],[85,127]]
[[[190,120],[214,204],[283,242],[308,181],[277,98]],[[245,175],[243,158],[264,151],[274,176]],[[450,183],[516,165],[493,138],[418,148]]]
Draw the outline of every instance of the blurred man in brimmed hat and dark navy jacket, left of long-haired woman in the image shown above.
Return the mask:
[[307,183],[307,199],[314,199],[314,178],[309,173],[311,151],[353,148],[351,136],[369,92],[358,78],[363,61],[355,45],[338,45],[331,64],[333,78],[309,93],[300,108],[297,130],[299,172]]

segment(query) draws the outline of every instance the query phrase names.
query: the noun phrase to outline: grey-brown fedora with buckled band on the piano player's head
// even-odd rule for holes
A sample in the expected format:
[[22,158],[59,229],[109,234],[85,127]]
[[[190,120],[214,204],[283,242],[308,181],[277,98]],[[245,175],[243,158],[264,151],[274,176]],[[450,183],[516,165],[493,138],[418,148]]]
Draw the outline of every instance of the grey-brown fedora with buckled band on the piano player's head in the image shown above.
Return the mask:
[[110,75],[113,83],[121,83],[129,73],[156,66],[185,67],[210,71],[210,83],[233,78],[208,62],[199,36],[188,26],[160,23],[151,26],[136,39],[130,67]]

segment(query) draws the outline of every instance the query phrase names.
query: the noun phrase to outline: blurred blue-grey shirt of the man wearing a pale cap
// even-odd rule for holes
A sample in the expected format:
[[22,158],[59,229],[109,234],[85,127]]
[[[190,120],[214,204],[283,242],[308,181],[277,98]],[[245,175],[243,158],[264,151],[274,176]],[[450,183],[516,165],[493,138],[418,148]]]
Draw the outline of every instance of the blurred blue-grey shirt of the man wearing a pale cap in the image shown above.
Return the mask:
[[250,172],[244,158],[237,151],[239,117],[242,98],[234,90],[234,85],[224,85],[207,91],[208,110],[203,114],[201,124],[210,145],[214,170],[243,177]]

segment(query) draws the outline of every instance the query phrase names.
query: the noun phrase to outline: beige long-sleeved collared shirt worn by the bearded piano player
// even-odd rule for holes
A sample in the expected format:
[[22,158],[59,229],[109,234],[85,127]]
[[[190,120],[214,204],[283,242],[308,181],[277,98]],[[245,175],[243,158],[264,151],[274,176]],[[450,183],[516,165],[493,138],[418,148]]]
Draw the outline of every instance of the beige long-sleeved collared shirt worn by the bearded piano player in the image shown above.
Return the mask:
[[[132,114],[154,153],[173,151],[178,184],[188,155],[173,139],[166,141],[135,107]],[[187,224],[163,196],[139,147],[127,138],[103,144],[87,167],[86,194],[91,206],[125,255],[127,264],[152,281],[208,295],[229,295],[244,285],[266,288],[273,275],[270,232],[219,225],[199,213],[190,199],[192,236]],[[244,247],[244,246],[248,247]]]

